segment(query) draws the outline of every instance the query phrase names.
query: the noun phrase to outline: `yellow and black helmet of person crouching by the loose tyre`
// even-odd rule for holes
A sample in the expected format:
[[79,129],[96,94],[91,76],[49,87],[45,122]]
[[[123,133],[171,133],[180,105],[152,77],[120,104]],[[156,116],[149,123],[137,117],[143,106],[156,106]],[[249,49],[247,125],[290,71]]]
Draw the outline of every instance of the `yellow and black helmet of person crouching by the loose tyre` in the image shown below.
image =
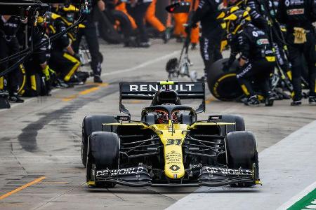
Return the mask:
[[228,21],[228,34],[237,34],[238,31],[242,30],[242,28],[251,21],[251,18],[248,11],[235,10],[224,18],[224,20]]

